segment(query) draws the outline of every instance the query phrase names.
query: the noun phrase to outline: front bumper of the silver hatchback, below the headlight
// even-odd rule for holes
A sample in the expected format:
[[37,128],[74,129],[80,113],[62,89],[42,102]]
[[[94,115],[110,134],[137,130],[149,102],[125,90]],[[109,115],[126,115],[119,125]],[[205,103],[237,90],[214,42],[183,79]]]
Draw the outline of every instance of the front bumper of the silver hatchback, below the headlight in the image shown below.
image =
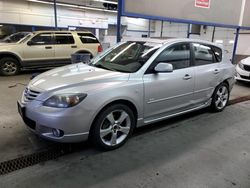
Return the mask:
[[[75,143],[88,139],[91,125],[88,110],[76,107],[70,109],[56,109],[41,105],[40,101],[22,104],[18,101],[18,111],[28,129],[33,133],[56,142]],[[82,111],[83,110],[83,111]],[[53,134],[60,130],[60,135]]]

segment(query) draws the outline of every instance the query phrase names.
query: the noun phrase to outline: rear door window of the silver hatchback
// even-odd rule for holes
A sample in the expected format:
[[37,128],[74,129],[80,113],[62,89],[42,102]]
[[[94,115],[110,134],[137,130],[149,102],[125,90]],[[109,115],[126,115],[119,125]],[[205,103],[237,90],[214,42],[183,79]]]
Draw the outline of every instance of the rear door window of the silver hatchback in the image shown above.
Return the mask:
[[194,43],[195,65],[207,65],[216,62],[212,47],[205,44]]

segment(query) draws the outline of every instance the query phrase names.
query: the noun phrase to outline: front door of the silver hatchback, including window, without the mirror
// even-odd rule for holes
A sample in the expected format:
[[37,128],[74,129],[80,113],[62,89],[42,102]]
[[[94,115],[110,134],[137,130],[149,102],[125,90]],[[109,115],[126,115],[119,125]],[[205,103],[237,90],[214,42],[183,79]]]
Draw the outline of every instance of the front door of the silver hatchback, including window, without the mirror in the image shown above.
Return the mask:
[[[158,63],[170,63],[173,72],[156,73]],[[190,66],[190,44],[167,47],[143,77],[145,123],[187,110],[192,106],[194,68]]]

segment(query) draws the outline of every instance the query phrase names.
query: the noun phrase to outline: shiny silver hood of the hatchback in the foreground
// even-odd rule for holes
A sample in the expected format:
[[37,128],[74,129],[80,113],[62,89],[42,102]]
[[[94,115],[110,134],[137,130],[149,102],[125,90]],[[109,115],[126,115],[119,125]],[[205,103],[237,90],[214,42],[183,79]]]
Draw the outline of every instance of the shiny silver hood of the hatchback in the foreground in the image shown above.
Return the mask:
[[38,91],[50,91],[89,84],[123,82],[127,81],[128,78],[128,73],[114,72],[78,63],[42,73],[31,80],[28,87]]

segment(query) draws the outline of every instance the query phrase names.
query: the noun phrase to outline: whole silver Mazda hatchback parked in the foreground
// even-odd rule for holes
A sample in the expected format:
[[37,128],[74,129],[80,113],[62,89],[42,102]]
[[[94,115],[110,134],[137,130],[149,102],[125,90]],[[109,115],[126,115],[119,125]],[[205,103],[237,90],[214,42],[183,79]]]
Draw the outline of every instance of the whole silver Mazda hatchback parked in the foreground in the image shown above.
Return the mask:
[[89,138],[111,150],[134,128],[210,106],[222,111],[235,68],[221,47],[199,40],[130,41],[45,72],[18,102],[34,133],[57,142]]

